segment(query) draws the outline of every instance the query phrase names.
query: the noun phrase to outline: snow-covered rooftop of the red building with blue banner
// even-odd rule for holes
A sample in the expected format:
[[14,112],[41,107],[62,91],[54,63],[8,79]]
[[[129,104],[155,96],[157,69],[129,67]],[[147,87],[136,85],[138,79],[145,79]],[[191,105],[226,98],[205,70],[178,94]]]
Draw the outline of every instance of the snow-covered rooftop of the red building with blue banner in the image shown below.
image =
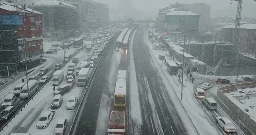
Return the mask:
[[12,3],[8,3],[8,2],[2,2],[3,5],[0,5],[0,9],[4,9],[4,10],[8,10],[8,11],[16,11],[16,12],[25,12],[25,13],[36,13],[36,14],[43,14],[37,11],[33,11],[30,8],[26,8],[26,9],[22,9],[22,7],[19,5],[18,9],[15,7],[15,5],[13,5]]

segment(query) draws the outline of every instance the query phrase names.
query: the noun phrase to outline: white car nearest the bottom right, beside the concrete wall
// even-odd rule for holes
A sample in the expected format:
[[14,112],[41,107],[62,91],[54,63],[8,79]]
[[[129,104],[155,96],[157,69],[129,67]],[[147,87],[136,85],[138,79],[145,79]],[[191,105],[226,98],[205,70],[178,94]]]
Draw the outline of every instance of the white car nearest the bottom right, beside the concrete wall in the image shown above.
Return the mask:
[[216,122],[226,132],[236,132],[236,127],[230,119],[224,117],[216,117]]

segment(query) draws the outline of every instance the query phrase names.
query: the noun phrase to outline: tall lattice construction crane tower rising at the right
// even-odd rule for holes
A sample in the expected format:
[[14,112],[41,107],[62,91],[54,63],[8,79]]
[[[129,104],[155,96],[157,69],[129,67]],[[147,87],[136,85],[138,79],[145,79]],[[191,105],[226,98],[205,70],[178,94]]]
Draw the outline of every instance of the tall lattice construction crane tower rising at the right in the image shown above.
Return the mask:
[[[234,47],[234,56],[237,56],[237,50],[238,50],[238,35],[239,35],[239,28],[240,28],[240,22],[241,22],[241,15],[242,15],[242,7],[243,7],[243,0],[231,0],[237,2],[237,11],[236,11],[236,24],[235,29],[233,33],[233,44]],[[256,0],[253,0],[256,2]],[[237,58],[237,57],[236,57]],[[235,60],[237,62],[237,60]],[[238,78],[238,62],[237,62],[237,78]]]

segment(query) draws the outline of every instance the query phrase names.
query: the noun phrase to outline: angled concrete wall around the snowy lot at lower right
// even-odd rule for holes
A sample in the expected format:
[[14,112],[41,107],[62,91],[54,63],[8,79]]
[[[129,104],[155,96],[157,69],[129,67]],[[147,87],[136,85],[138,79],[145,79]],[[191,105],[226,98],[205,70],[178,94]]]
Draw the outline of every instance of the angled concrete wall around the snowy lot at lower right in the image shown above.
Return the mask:
[[231,84],[228,86],[222,86],[218,88],[217,96],[219,99],[236,115],[236,117],[249,128],[249,130],[256,134],[256,122],[250,118],[250,115],[245,113],[242,109],[240,109],[234,102],[232,102],[225,93],[229,93],[232,91],[236,91],[238,88],[245,87],[245,88],[255,88],[256,82],[242,82]]

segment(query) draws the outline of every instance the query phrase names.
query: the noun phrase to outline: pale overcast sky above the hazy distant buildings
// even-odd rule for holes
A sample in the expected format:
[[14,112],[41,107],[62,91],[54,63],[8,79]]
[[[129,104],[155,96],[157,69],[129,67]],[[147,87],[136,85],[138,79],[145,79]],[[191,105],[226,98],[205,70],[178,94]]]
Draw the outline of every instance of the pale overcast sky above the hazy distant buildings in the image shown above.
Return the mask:
[[[118,7],[119,6],[119,0],[94,0],[96,2],[106,3],[109,5],[109,7]],[[127,0],[132,3],[132,7],[137,8],[138,10],[141,10],[143,12],[148,13],[154,13],[155,15],[158,14],[158,10],[167,7],[169,3],[173,4],[176,3],[177,0]],[[218,9],[221,10],[230,10],[230,3],[232,3],[232,15],[236,15],[236,7],[237,2],[231,1],[231,0],[178,0],[179,3],[201,3],[204,2],[205,4],[211,5],[211,14],[214,14],[214,11],[217,11]],[[254,13],[256,13],[255,10],[256,2],[253,0],[243,0],[243,16],[248,17],[256,17]],[[252,12],[254,11],[254,12]],[[255,15],[255,16],[254,16]]]

